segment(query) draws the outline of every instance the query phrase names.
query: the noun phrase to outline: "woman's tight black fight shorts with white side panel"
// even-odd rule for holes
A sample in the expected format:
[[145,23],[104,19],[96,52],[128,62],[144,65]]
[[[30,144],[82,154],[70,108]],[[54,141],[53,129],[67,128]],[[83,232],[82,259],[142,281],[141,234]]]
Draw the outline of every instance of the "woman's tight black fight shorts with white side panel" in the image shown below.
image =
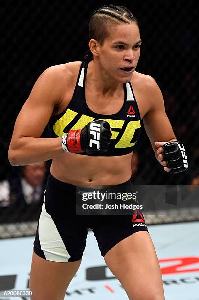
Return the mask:
[[137,221],[132,215],[76,215],[76,186],[49,175],[34,252],[50,261],[77,261],[82,258],[88,229],[94,232],[102,256],[131,234],[148,231],[142,214]]

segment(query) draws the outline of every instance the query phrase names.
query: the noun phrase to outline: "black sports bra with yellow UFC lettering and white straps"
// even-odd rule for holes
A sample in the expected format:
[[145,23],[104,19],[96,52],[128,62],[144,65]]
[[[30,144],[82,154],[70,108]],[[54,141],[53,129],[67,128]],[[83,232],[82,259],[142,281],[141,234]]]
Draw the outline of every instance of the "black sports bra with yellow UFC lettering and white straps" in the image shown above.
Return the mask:
[[[82,129],[93,120],[106,120],[112,129],[111,143],[106,153],[97,156],[119,156],[131,153],[140,131],[140,113],[131,83],[124,84],[125,99],[122,108],[112,115],[101,115],[90,110],[85,99],[85,79],[88,63],[80,67],[73,97],[66,109],[52,116],[48,123],[50,137],[61,137],[69,130]],[[87,155],[81,153],[80,155]]]

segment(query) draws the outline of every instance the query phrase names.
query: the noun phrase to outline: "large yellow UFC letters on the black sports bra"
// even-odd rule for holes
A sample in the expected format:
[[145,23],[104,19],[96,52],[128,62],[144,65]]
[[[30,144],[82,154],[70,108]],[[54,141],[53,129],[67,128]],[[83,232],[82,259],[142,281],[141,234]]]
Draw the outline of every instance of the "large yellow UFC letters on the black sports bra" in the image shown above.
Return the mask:
[[[67,132],[64,132],[64,128],[70,124],[70,122],[78,115],[77,112],[71,110],[71,109],[67,109],[66,113],[59,119],[57,120],[57,122],[55,122],[54,126],[53,126],[53,130],[55,132],[55,134],[59,137],[61,137],[63,134],[66,134]],[[84,126],[86,126],[89,122],[93,121],[94,118],[93,117],[89,117],[87,115],[82,115],[79,120],[77,121],[77,123],[70,128],[70,130],[76,130],[76,129],[82,129],[84,128]],[[140,121],[139,120],[134,120],[134,121],[130,121],[128,122],[126,128],[122,128],[124,125],[124,120],[113,120],[113,119],[99,119],[99,120],[104,120],[107,121],[111,127],[111,129],[115,128],[115,129],[123,129],[124,133],[122,135],[122,137],[120,138],[120,140],[117,142],[117,144],[115,145],[115,148],[126,148],[126,147],[133,147],[135,143],[130,143],[133,135],[135,133],[135,130],[140,128]],[[118,136],[118,134],[120,133],[120,131],[111,131],[112,136],[111,139],[115,140]]]

